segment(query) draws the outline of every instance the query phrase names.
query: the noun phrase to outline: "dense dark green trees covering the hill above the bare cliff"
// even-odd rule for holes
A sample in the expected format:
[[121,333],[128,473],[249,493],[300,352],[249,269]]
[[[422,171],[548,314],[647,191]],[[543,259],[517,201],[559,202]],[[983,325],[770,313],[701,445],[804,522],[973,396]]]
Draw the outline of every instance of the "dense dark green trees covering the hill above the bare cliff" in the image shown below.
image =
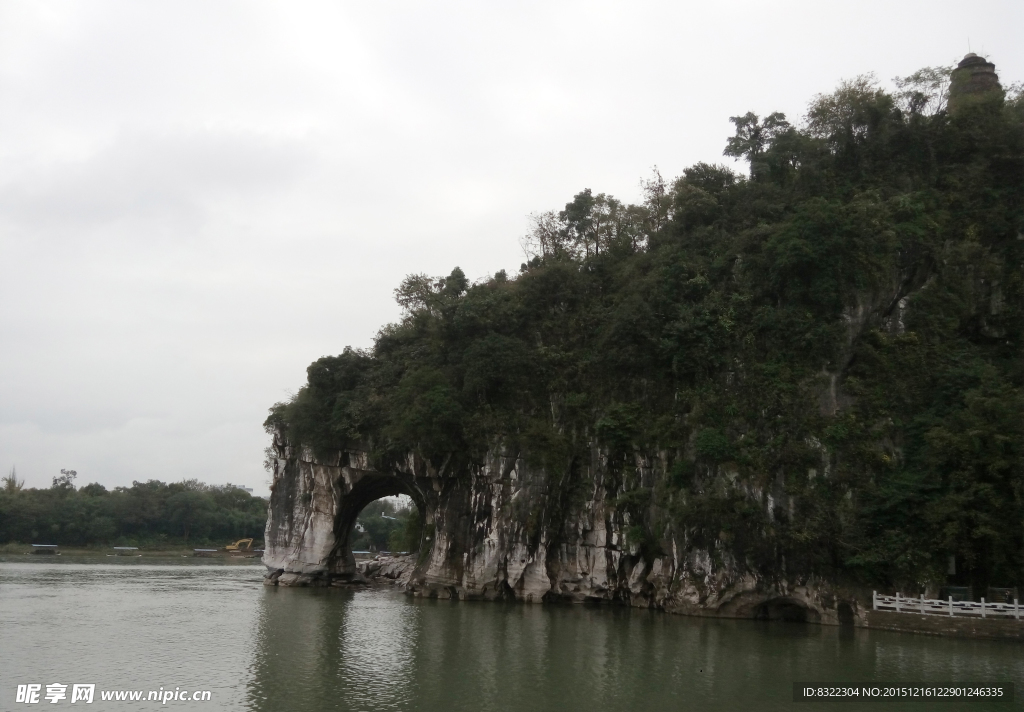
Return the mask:
[[535,217],[517,277],[409,277],[402,320],[313,363],[268,427],[455,473],[501,444],[553,497],[596,445],[645,552],[888,584],[955,556],[955,581],[1024,584],[1024,101],[949,111],[947,80],[735,117],[749,177],[584,191]]

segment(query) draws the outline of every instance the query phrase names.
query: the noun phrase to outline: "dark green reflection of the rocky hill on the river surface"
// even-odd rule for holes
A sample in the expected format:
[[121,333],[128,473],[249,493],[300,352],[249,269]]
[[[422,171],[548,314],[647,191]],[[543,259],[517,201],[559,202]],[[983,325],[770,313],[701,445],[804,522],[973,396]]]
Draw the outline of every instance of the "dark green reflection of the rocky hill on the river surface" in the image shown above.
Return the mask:
[[270,590],[260,626],[250,705],[266,712],[790,710],[794,681],[1010,681],[1024,674],[1013,643],[628,609],[423,600],[388,590]]

